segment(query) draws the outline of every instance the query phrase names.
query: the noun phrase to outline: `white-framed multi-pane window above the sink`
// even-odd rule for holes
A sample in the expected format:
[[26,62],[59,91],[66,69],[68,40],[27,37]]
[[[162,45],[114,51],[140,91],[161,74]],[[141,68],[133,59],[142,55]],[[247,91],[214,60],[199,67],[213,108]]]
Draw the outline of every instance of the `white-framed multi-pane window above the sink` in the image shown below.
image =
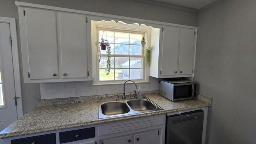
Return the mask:
[[[93,22],[92,22],[92,26]],[[142,47],[140,40],[142,37],[147,41],[147,26],[138,24],[124,24],[113,21],[96,22],[95,30],[97,41],[101,38],[108,40],[111,46],[111,68],[106,75],[106,50],[96,52],[96,59],[101,59],[96,66],[97,84],[102,82],[117,83],[122,80],[146,81],[145,47]],[[93,33],[93,32],[92,32]],[[93,37],[93,36],[92,36]],[[96,46],[99,49],[99,46]]]

